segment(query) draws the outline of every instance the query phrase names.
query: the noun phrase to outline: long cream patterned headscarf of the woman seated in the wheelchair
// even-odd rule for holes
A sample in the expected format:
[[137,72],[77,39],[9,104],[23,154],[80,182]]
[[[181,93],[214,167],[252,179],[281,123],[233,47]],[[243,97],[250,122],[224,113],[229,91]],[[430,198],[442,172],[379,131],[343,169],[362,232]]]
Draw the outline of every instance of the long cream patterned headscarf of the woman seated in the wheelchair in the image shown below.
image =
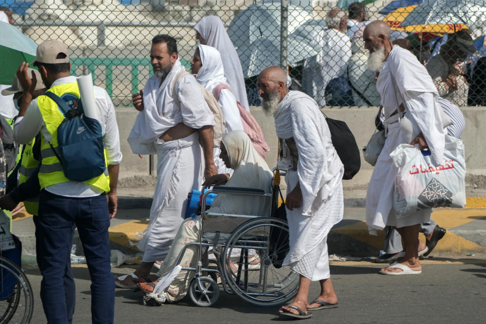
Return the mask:
[[[248,135],[242,131],[233,131],[221,140],[228,152],[233,175],[226,186],[272,190],[272,172],[265,160],[253,148]],[[236,195],[218,195],[211,205],[213,213],[267,216],[268,198]]]

